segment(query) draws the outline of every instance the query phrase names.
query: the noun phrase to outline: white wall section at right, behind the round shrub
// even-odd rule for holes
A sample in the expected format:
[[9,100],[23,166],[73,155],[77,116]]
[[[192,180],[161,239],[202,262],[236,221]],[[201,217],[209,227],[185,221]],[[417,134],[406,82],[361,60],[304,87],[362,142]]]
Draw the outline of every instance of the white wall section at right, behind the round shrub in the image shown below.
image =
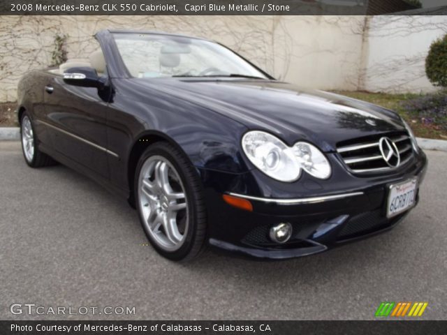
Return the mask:
[[360,89],[390,93],[437,89],[425,75],[425,58],[432,42],[447,34],[447,16],[374,16],[368,24]]

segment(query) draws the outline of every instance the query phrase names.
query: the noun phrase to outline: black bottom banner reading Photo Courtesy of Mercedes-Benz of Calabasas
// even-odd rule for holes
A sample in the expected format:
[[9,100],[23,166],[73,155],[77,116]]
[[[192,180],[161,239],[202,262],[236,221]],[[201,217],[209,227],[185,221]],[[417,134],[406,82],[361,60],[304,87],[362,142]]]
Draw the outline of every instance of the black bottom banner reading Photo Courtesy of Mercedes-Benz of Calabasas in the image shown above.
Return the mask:
[[447,321],[0,321],[2,335],[445,335]]

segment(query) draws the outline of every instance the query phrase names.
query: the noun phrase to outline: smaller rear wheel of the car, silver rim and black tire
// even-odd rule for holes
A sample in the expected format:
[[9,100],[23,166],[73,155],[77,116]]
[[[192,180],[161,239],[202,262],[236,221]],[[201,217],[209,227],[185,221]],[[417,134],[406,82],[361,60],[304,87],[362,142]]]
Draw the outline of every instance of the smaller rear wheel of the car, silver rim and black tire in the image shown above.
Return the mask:
[[20,119],[20,142],[22,142],[22,152],[25,162],[31,168],[43,168],[54,165],[56,162],[38,149],[38,138],[34,131],[33,122],[28,112],[24,112]]

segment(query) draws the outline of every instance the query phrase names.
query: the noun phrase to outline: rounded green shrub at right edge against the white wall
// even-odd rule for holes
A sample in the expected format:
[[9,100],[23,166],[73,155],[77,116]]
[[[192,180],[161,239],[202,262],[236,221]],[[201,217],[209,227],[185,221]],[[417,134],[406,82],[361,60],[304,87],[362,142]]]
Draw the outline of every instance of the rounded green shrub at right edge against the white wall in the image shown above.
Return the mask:
[[447,87],[447,35],[430,45],[425,73],[434,86]]

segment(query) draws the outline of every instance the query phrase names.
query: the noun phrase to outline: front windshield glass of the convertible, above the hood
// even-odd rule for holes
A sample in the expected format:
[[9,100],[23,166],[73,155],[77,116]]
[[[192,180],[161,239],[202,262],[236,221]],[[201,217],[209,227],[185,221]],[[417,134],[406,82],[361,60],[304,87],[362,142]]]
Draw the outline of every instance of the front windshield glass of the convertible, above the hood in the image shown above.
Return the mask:
[[133,77],[259,77],[237,54],[198,38],[157,34],[113,34]]

